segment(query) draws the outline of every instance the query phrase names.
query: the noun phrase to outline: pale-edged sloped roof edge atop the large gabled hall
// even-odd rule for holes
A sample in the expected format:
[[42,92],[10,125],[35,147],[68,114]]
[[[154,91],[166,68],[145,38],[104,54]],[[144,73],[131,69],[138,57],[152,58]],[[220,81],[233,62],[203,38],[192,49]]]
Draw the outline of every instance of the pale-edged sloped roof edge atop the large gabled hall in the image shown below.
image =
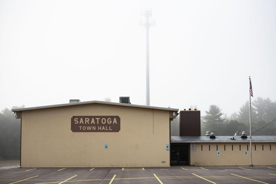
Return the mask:
[[12,112],[18,111],[29,111],[35,109],[47,109],[53,107],[64,107],[64,106],[76,106],[82,104],[108,104],[108,105],[118,105],[118,106],[129,106],[129,107],[140,107],[146,109],[157,109],[157,110],[166,110],[166,111],[175,111],[178,112],[179,109],[171,109],[171,108],[164,108],[164,107],[154,107],[154,106],[145,106],[145,105],[135,105],[135,104],[124,104],[124,103],[115,103],[115,102],[103,102],[103,101],[87,101],[87,102],[75,102],[75,103],[68,103],[68,104],[57,104],[57,105],[47,105],[47,106],[38,106],[38,107],[28,107],[28,108],[21,108],[21,109],[11,109]]

